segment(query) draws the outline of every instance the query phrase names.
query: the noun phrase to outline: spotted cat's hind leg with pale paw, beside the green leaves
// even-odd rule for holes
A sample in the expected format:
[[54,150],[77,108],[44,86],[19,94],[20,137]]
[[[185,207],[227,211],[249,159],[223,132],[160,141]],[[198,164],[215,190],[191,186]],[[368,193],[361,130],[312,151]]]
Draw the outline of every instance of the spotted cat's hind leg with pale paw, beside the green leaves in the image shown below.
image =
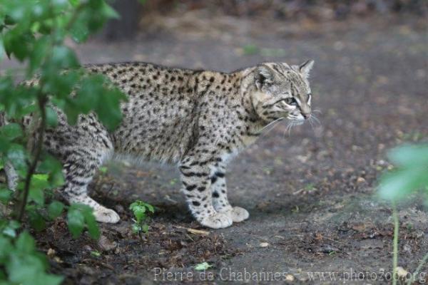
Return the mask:
[[118,222],[120,217],[113,209],[88,196],[88,185],[96,171],[113,155],[113,142],[103,125],[93,115],[81,116],[76,125],[63,123],[54,130],[46,130],[44,145],[63,164],[64,199],[70,204],[92,207],[98,222]]

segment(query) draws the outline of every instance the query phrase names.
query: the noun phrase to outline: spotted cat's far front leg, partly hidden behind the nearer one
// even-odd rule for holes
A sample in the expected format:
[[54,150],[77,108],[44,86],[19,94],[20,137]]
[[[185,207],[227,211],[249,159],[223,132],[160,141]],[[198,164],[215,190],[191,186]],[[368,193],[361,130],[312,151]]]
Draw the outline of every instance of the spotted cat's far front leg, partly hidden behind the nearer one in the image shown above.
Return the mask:
[[250,217],[246,209],[230,206],[223,163],[216,167],[211,176],[211,192],[213,193],[213,207],[217,212],[227,214],[233,222],[242,222]]

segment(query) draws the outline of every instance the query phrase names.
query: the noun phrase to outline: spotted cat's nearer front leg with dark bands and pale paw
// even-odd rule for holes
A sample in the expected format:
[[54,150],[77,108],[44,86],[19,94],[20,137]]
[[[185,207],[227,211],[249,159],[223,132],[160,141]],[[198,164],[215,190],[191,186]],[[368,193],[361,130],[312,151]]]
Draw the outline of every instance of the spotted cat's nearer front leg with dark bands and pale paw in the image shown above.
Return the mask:
[[[217,212],[211,194],[211,172],[213,165],[202,164],[198,157],[185,157],[180,162],[181,181],[188,207],[193,217],[205,227],[220,229],[232,225],[228,214]],[[205,160],[206,161],[206,160]]]

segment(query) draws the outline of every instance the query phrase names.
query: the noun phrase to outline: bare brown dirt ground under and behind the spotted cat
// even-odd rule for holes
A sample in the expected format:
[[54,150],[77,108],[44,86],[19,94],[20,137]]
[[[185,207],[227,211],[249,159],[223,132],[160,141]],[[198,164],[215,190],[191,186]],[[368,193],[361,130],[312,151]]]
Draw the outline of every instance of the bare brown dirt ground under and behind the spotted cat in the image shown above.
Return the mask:
[[[255,277],[389,284],[392,211],[374,193],[389,166],[386,151],[428,138],[427,23],[411,16],[324,24],[187,17],[155,23],[133,42],[92,41],[78,47],[79,56],[84,63],[137,60],[220,71],[313,58],[312,105],[321,125],[290,134],[285,123],[277,125],[231,163],[230,201],[248,209],[250,219],[228,229],[193,221],[175,167],[112,162],[91,191],[121,222],[102,224],[95,242],[88,235],[73,240],[58,219],[37,234],[39,247],[51,249],[52,271],[66,284],[254,284]],[[143,240],[131,232],[128,206],[136,199],[156,206]],[[428,249],[427,207],[413,197],[399,209],[399,266],[414,271]],[[213,265],[205,275],[193,269],[203,261]]]

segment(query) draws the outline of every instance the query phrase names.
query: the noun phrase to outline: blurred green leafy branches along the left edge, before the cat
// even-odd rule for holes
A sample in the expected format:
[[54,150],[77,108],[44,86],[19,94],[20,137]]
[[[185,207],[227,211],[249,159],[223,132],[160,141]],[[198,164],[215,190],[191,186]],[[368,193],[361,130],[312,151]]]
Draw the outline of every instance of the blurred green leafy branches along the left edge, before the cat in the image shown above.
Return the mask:
[[[54,189],[64,182],[62,165],[37,138],[57,124],[57,110],[71,124],[88,113],[95,113],[111,130],[120,123],[119,103],[125,95],[108,78],[82,68],[66,45],[68,38],[86,41],[117,17],[104,0],[0,0],[0,61],[7,56],[24,66],[24,78],[14,70],[0,76],[0,122],[9,121],[0,127],[0,166],[11,163],[19,175],[15,192],[0,184],[0,211],[16,208],[0,212],[0,284],[60,284],[63,279],[46,273],[49,263],[25,230],[28,224],[42,230],[66,209],[73,237],[84,229],[94,239],[99,237],[91,207],[66,207],[52,200]],[[33,119],[35,139],[19,123],[27,115]]]

